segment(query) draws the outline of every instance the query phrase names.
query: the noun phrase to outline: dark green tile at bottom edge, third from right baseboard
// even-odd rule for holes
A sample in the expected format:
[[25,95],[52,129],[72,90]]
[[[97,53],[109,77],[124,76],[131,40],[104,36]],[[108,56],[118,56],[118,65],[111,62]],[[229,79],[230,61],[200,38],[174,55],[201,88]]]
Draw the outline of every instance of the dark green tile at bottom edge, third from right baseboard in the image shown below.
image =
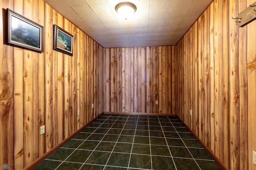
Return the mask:
[[152,166],[154,170],[175,170],[171,157],[152,156]]

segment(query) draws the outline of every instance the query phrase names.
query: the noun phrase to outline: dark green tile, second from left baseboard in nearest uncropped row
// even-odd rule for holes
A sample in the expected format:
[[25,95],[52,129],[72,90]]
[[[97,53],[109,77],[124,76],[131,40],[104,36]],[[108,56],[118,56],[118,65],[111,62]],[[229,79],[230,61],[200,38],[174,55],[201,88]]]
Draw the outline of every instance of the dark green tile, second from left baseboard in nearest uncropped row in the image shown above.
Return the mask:
[[91,153],[89,150],[75,150],[65,161],[84,163]]

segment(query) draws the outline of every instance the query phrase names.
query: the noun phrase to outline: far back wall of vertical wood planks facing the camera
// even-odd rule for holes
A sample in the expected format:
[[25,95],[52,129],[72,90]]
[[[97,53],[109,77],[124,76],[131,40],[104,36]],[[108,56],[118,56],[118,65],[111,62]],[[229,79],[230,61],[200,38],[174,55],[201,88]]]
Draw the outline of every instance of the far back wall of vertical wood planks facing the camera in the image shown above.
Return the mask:
[[104,49],[104,111],[175,114],[174,56],[175,46]]

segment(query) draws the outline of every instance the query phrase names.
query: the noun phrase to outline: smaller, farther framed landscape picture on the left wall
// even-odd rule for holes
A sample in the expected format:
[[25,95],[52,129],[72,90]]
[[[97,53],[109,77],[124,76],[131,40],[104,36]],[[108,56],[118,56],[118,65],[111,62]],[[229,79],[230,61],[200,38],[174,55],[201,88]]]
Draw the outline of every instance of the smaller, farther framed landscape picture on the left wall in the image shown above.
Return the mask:
[[53,49],[73,56],[73,36],[54,25]]

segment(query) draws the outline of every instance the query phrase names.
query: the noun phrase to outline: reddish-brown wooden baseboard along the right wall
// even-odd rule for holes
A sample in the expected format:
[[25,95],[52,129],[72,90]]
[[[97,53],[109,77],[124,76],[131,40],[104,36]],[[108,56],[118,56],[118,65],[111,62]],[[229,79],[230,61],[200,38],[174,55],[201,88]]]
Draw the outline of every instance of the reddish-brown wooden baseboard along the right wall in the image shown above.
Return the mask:
[[193,132],[190,127],[188,127],[179,117],[178,119],[186,126],[186,128],[188,128],[188,130],[190,131],[190,133],[196,138],[196,140],[198,140],[198,142],[204,147],[204,149],[206,150],[206,152],[212,156],[212,158],[215,160],[215,162],[218,164],[218,166],[220,166],[220,168],[222,170],[228,170],[228,168],[219,160],[219,158],[212,152],[212,150],[210,150],[210,148],[208,148],[204,142],[196,135],[195,132]]

